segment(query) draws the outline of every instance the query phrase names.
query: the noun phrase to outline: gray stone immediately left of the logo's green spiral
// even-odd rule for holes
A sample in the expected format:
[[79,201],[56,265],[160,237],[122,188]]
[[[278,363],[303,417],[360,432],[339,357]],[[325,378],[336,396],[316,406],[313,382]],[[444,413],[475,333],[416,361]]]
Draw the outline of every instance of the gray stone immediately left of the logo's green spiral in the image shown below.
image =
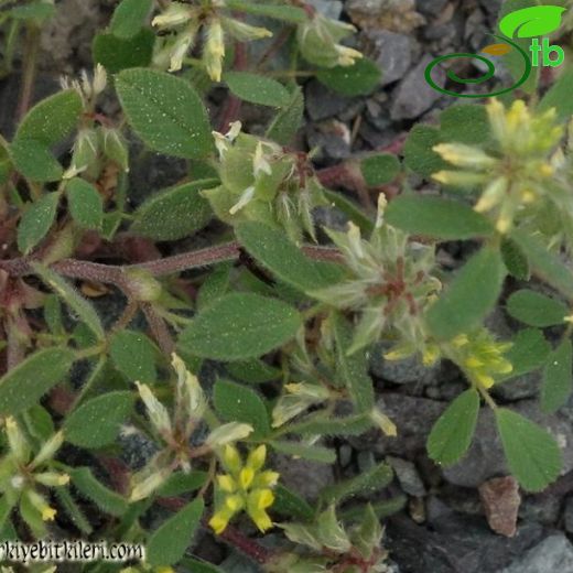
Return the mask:
[[[390,108],[392,119],[414,119],[428,111],[441,97],[425,80],[424,71],[433,57],[426,55],[408,73],[393,93]],[[445,83],[445,74],[441,68],[434,69],[434,80],[439,86]]]

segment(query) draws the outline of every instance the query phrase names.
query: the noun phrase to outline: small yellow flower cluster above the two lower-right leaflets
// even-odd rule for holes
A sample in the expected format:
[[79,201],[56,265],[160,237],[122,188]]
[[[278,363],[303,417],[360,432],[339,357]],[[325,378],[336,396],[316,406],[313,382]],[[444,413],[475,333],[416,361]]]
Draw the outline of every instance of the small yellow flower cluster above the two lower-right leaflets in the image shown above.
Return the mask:
[[446,355],[456,363],[468,379],[484,389],[496,382],[496,377],[513,369],[504,355],[511,343],[498,343],[484,328],[472,335],[461,334],[447,345]]

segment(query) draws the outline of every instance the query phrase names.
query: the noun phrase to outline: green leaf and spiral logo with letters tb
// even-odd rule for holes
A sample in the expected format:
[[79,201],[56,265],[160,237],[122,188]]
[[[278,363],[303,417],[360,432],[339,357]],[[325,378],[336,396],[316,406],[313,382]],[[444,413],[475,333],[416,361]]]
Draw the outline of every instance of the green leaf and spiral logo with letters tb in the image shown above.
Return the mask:
[[[504,35],[491,34],[493,37],[500,42],[489,44],[482,50],[480,54],[486,55],[462,52],[458,54],[447,54],[437,57],[425,68],[426,82],[435,90],[441,91],[442,94],[465,98],[495,97],[517,89],[528,80],[533,67],[556,67],[565,61],[565,53],[561,46],[550,45],[549,39],[547,37],[541,42],[539,40],[539,36],[549,34],[561,25],[561,18],[564,11],[565,9],[560,6],[536,6],[510,12],[499,22],[499,30]],[[512,41],[515,39],[528,37],[532,39],[531,45],[529,46],[529,53]],[[483,84],[484,82],[491,79],[496,73],[495,61],[491,61],[487,56],[502,56],[511,51],[515,51],[523,60],[523,74],[512,86],[490,94],[458,94],[457,91],[440,87],[432,76],[434,68],[448,60],[472,58],[478,60],[487,67],[487,71],[480,77],[463,78],[452,69],[446,72],[446,76],[451,82],[455,82],[456,84]]]

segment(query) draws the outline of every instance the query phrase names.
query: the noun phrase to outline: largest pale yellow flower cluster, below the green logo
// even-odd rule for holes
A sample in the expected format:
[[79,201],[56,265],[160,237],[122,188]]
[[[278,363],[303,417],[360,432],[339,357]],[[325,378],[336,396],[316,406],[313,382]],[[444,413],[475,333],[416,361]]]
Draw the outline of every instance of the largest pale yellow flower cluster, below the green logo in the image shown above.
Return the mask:
[[548,203],[560,202],[551,184],[565,163],[561,149],[555,151],[564,130],[555,123],[555,109],[531,113],[522,100],[507,110],[493,99],[487,113],[497,149],[435,145],[433,150],[460,171],[440,171],[433,179],[444,185],[483,186],[475,210],[491,213],[497,230],[506,234],[517,217],[531,217],[531,207],[542,210]]

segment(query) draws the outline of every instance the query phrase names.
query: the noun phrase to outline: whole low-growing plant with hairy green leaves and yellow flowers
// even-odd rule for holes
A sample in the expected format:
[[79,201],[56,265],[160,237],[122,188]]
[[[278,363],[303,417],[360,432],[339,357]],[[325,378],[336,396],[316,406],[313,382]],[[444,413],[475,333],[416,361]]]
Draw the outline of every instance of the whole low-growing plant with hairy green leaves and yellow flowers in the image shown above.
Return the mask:
[[[127,571],[219,571],[186,552],[203,528],[269,572],[386,571],[380,519],[402,502],[372,496],[386,463],[313,505],[273,468],[278,455],[334,464],[333,437],[400,432],[368,374],[381,346],[385,360],[450,360],[465,376],[428,439],[436,463],[463,458],[484,404],[523,489],[559,476],[555,440],[496,389],[542,369],[542,410],[571,393],[571,74],[540,101],[453,106],[414,127],[403,164],[372,153],[317,170],[294,144],[299,79],[350,96],[379,82],[344,44],[350,24],[301,0],[122,0],[94,39],[93,73],[32,107],[37,30],[54,11],[0,12],[6,73],[28,32],[20,120],[0,140],[6,538],[57,522],[143,543]],[[273,110],[264,132],[244,129],[244,101]],[[186,160],[187,175],[132,209],[137,140]],[[412,191],[414,173],[431,192]],[[402,193],[387,198],[389,183]],[[347,226],[321,228],[320,206]],[[207,226],[210,245],[186,250]],[[440,257],[451,241],[475,250],[455,271]],[[525,327],[499,339],[486,317],[505,285],[532,278],[561,298],[513,289],[506,310]],[[108,292],[123,301],[111,321],[97,310]],[[141,467],[121,455],[129,439],[153,446]],[[349,505],[357,495],[369,502]],[[94,506],[106,517],[90,519]],[[159,527],[158,507],[174,511]],[[271,530],[272,548],[256,539]]]

